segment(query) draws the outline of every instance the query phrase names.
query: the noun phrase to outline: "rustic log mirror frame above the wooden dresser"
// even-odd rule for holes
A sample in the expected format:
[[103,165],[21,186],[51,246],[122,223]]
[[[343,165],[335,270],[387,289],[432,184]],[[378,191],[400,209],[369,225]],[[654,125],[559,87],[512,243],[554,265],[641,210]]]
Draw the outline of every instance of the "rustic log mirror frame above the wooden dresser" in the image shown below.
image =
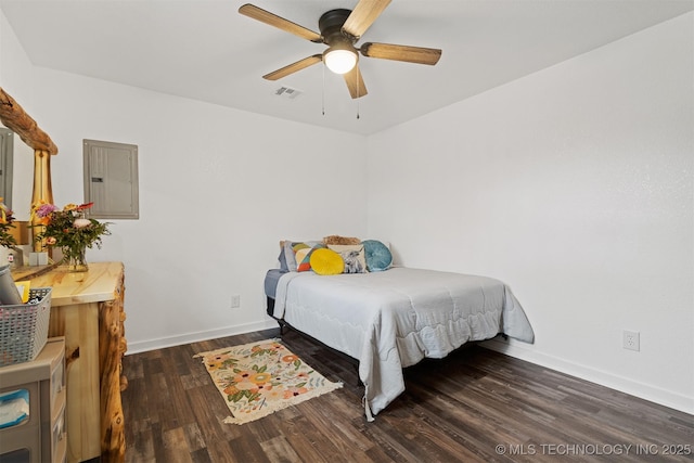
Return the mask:
[[[36,120],[26,114],[20,103],[1,87],[0,121],[34,150],[34,189],[29,208],[39,201],[53,204],[51,156],[57,154],[57,146],[48,133],[39,128]],[[41,243],[34,243],[34,250],[41,250]]]

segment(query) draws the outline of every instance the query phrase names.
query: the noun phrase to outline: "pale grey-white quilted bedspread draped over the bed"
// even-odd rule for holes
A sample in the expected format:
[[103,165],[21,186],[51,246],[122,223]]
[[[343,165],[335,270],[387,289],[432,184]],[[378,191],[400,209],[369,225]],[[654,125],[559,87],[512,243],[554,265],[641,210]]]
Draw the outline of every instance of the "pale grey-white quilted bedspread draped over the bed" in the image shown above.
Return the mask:
[[273,314],[359,360],[370,421],[404,390],[402,368],[499,333],[528,343],[535,337],[502,282],[409,268],[331,276],[285,273]]

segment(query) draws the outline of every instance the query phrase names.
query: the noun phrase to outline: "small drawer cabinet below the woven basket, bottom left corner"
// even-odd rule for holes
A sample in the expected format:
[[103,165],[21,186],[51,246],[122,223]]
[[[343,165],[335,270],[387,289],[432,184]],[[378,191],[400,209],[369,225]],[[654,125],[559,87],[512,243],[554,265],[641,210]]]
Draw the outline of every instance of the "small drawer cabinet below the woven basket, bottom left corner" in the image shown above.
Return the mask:
[[30,362],[0,368],[0,395],[26,390],[28,416],[0,428],[0,461],[62,463],[66,461],[65,339],[53,337]]

